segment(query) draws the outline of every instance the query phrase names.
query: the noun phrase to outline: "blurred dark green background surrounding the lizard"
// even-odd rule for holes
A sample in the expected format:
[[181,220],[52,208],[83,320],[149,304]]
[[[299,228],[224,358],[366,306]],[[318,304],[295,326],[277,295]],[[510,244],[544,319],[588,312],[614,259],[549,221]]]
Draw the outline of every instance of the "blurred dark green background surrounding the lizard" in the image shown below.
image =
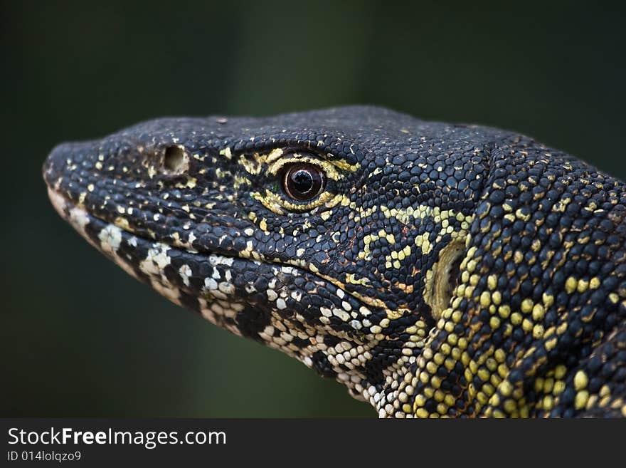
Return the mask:
[[[548,2],[546,2],[548,3]],[[1,4],[2,416],[366,416],[157,296],[53,212],[64,140],[164,115],[375,103],[519,130],[626,177],[624,14],[524,2]]]

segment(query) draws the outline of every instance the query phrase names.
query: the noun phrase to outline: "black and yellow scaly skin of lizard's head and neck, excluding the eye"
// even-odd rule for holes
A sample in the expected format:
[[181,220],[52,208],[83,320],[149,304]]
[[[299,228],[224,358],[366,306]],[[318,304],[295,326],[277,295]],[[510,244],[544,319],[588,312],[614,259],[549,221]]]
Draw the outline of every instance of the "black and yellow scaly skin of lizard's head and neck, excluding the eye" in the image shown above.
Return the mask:
[[[297,164],[326,180],[304,201]],[[168,118],[43,173],[129,274],[380,416],[626,415],[625,184],[529,137],[371,107]]]

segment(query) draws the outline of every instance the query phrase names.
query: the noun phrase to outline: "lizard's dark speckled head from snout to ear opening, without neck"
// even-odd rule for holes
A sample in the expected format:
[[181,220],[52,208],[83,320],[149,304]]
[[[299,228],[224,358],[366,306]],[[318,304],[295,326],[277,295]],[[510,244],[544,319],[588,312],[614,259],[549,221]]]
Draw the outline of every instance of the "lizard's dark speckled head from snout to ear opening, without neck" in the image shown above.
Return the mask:
[[380,407],[450,303],[487,130],[369,107],[166,118],[59,145],[43,175],[129,274]]

